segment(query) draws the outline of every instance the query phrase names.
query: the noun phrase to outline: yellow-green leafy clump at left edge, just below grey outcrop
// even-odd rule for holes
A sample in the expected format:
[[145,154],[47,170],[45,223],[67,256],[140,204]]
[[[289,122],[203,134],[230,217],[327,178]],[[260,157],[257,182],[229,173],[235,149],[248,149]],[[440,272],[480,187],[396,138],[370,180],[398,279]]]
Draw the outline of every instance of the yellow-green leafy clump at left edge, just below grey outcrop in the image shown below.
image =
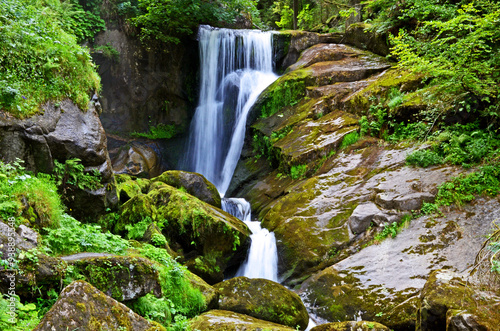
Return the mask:
[[22,161],[0,161],[0,217],[38,227],[56,227],[63,213],[56,186],[47,176],[25,171]]

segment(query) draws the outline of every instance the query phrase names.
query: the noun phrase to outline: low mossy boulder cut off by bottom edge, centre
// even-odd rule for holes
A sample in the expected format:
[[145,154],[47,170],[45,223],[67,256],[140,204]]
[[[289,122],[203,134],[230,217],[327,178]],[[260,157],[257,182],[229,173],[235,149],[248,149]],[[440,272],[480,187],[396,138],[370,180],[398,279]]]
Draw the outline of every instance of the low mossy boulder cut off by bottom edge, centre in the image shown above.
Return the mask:
[[255,317],[226,310],[211,310],[193,318],[192,330],[217,331],[293,331],[284,325],[262,321]]

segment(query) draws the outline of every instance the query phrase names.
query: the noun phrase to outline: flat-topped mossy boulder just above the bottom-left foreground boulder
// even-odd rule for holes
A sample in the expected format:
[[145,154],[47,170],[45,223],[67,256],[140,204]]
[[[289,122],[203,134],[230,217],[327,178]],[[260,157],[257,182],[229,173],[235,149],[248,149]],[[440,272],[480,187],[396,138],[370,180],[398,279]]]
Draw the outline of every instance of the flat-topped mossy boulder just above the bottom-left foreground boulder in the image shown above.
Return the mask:
[[100,256],[69,260],[87,282],[118,301],[134,300],[147,293],[160,297],[158,270],[143,257]]

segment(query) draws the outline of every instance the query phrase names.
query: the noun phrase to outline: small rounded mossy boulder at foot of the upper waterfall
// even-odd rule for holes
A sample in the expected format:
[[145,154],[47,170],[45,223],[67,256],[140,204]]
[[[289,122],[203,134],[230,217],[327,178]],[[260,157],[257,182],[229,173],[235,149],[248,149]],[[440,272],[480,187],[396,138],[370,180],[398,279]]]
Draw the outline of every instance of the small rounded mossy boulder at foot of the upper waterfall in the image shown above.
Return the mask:
[[182,188],[201,201],[221,208],[221,199],[217,188],[203,175],[195,172],[170,170],[153,179],[153,182],[157,181],[178,189]]

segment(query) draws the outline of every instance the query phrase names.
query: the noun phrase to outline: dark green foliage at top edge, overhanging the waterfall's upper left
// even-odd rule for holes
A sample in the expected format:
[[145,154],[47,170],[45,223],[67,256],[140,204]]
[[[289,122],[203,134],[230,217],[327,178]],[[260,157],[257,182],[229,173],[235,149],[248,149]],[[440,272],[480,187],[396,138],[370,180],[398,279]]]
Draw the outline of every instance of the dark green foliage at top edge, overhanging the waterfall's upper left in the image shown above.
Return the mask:
[[240,13],[256,11],[252,0],[139,0],[140,13],[131,18],[144,42],[180,42],[200,24],[233,23]]

